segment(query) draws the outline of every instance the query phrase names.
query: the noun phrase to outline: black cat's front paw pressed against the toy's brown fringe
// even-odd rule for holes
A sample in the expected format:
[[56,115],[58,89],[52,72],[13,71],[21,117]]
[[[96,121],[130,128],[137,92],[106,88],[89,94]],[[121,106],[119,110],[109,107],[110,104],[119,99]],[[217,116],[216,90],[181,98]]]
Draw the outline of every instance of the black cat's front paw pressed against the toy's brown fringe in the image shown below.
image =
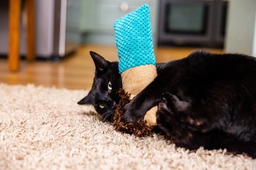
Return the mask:
[[136,123],[138,120],[144,118],[144,114],[134,106],[133,102],[130,102],[124,106],[123,119],[127,123]]

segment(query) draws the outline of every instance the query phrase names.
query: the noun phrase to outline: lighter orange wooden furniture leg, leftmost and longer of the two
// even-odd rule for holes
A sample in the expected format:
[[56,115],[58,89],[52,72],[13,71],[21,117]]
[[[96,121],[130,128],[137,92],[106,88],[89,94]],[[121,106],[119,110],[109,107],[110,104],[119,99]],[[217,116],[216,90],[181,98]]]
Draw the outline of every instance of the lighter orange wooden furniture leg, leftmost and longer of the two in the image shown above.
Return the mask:
[[9,69],[19,68],[19,18],[21,0],[9,1]]

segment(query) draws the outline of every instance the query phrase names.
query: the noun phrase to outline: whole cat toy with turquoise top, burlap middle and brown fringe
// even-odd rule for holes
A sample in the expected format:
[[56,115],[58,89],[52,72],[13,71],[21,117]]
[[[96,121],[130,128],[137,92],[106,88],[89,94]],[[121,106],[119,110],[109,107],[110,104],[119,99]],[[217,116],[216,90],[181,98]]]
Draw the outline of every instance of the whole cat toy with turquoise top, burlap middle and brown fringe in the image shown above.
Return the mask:
[[147,111],[144,119],[137,123],[126,123],[122,113],[124,105],[157,77],[149,6],[144,4],[116,20],[114,30],[123,85],[118,91],[121,99],[115,111],[114,128],[120,132],[146,136],[156,125],[157,106]]

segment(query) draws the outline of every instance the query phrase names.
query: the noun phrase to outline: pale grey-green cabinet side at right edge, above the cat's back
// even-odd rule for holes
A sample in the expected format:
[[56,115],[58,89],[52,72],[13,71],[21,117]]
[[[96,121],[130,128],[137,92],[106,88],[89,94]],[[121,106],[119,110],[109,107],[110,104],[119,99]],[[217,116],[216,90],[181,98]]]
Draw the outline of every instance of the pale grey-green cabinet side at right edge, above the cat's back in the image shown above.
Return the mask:
[[225,52],[256,57],[256,1],[229,3]]

